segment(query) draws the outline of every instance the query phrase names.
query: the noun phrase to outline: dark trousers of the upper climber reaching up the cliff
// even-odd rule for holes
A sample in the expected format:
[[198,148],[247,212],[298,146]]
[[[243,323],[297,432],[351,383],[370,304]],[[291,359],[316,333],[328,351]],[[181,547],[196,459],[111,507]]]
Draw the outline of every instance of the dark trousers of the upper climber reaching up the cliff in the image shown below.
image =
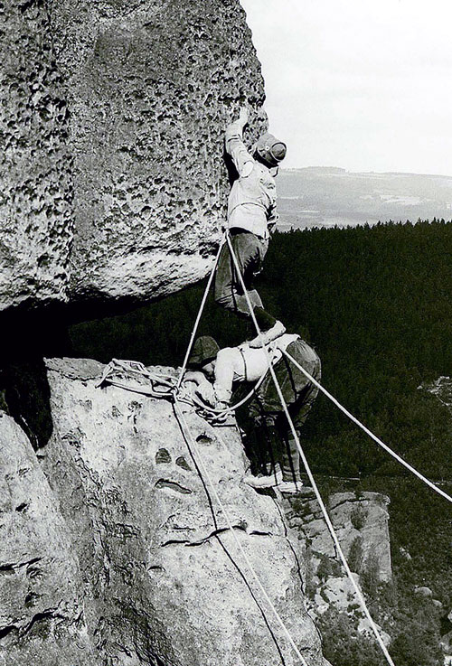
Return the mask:
[[[253,286],[254,278],[262,270],[264,258],[267,254],[268,240],[260,239],[250,231],[242,230],[231,230],[230,238],[239,265],[240,275],[250,297],[259,328],[268,331],[275,324],[276,319],[265,312],[260,296]],[[215,302],[241,316],[251,316],[240,277],[227,244],[221,249],[215,274]]]

